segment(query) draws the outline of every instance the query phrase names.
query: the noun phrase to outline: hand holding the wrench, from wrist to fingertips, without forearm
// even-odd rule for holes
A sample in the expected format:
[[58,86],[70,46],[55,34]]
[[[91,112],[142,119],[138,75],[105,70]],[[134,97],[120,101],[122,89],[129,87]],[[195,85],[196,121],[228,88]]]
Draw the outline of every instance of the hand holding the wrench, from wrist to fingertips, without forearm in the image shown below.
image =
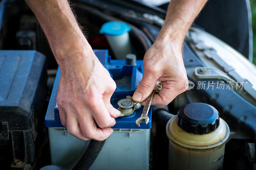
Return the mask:
[[183,64],[181,46],[167,41],[156,41],[147,51],[143,61],[143,78],[132,99],[145,103],[153,91],[156,81],[163,81],[163,89],[155,94],[152,105],[164,107],[176,96],[186,91],[188,80]]

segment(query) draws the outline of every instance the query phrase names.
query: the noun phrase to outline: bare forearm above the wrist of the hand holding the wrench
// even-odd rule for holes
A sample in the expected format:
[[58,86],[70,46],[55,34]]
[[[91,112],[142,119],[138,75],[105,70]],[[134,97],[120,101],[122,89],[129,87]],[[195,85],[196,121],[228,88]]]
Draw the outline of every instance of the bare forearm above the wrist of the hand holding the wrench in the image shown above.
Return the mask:
[[157,40],[172,41],[181,46],[186,32],[206,2],[207,0],[171,0]]

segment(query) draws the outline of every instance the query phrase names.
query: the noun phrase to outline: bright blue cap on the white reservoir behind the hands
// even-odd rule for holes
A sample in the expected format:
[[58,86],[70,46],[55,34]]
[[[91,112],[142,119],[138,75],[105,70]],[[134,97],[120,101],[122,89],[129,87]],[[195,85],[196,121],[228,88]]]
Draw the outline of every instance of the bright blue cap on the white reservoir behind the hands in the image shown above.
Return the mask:
[[108,36],[118,36],[131,31],[131,29],[132,28],[124,22],[109,21],[101,26],[100,34],[106,34]]

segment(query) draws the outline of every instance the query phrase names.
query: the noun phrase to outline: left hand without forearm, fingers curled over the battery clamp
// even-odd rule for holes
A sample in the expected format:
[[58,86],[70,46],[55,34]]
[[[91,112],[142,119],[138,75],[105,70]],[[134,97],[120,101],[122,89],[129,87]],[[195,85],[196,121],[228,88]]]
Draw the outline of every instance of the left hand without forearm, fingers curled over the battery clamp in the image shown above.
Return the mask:
[[92,49],[65,55],[59,63],[57,96],[61,123],[81,140],[104,140],[113,132],[114,117],[120,115],[110,104],[116,83]]

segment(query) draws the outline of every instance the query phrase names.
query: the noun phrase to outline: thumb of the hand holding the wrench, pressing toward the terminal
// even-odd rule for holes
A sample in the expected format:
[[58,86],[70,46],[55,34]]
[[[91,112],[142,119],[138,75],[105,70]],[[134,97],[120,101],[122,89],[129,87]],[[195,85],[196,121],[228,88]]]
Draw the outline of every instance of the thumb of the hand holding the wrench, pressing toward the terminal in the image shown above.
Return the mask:
[[153,74],[143,74],[139,86],[132,96],[132,100],[136,102],[143,102],[152,93],[156,86],[156,81],[159,77]]

